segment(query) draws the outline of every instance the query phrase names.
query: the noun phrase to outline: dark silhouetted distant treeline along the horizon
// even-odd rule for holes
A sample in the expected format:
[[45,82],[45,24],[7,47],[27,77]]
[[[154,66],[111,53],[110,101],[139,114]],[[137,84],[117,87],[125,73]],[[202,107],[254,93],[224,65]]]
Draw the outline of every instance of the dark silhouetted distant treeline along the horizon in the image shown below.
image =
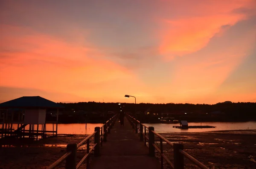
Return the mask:
[[[166,103],[166,104],[152,104],[152,103],[100,103],[100,102],[79,102],[79,103],[60,103],[65,106],[65,110],[84,110],[88,112],[119,112],[121,109],[125,112],[144,113],[147,111],[155,113],[182,113],[194,112],[195,114],[204,114],[211,112],[222,112],[221,118],[225,121],[246,121],[256,120],[256,103],[232,103],[225,101],[213,105],[209,104],[189,104],[189,103]],[[120,108],[121,107],[121,108]],[[209,117],[208,117],[209,118]],[[220,120],[221,120],[220,119]]]

